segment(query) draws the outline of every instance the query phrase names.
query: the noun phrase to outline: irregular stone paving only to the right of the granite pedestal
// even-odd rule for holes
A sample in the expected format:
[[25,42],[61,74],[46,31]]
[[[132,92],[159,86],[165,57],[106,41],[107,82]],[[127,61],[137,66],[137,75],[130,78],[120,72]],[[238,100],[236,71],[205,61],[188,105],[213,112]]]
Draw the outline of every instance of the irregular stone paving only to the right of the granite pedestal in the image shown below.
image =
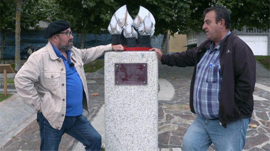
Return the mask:
[[[196,117],[189,109],[192,72],[193,67],[159,66],[160,78],[165,78],[175,88],[174,97],[170,101],[159,100],[159,148],[183,147],[183,135]],[[269,77],[257,77],[256,82],[270,86]],[[250,124],[256,124],[257,128],[248,128],[244,150],[270,150],[270,92],[255,88],[253,94],[267,100],[254,100]],[[208,150],[216,148],[211,145]]]

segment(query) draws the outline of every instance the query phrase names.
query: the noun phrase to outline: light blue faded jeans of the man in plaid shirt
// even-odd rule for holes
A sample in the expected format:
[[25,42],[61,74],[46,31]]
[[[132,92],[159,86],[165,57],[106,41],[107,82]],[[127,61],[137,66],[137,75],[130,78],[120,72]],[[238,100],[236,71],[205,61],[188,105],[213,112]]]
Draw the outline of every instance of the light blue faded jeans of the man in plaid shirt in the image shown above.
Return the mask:
[[183,150],[207,150],[213,143],[218,150],[242,150],[251,118],[219,124],[219,120],[197,116],[183,138]]

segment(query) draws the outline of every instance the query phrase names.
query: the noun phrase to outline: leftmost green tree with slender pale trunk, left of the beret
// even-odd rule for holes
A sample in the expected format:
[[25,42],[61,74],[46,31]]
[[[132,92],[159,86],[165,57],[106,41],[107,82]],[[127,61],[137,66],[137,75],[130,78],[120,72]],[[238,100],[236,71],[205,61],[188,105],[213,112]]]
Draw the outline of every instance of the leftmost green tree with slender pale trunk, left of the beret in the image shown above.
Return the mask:
[[[1,39],[1,57],[3,58],[3,52],[5,49],[6,33],[8,31],[15,32],[16,25],[16,12],[17,12],[17,0],[1,0],[0,7],[0,31],[2,35]],[[21,30],[29,30],[30,27],[37,28],[37,23],[40,20],[47,20],[50,9],[48,9],[49,2],[47,0],[21,0]],[[46,9],[45,9],[46,8]],[[20,32],[20,31],[19,31]],[[17,46],[15,46],[17,47]],[[20,46],[17,47],[18,52],[15,54],[15,62],[20,62]],[[15,51],[16,53],[16,51]],[[17,57],[16,57],[17,55]],[[18,65],[20,66],[20,65]],[[15,70],[20,67],[15,67]]]

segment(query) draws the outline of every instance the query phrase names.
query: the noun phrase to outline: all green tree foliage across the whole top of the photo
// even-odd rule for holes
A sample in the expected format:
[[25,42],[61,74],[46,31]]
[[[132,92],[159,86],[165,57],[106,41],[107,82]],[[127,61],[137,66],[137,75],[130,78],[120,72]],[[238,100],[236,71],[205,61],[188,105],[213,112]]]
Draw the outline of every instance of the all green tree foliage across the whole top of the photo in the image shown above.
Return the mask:
[[[200,31],[203,10],[214,5],[231,12],[232,29],[244,26],[269,29],[269,0],[22,0],[21,29],[28,30],[40,20],[67,20],[77,33],[100,34],[107,30],[114,12],[127,5],[134,18],[139,6],[148,9],[156,20],[155,34],[187,34]],[[0,30],[15,31],[16,0],[0,1]],[[5,38],[2,38],[2,41]],[[3,44],[3,42],[2,42]],[[1,46],[3,49],[3,46]],[[2,52],[2,51],[1,51]]]

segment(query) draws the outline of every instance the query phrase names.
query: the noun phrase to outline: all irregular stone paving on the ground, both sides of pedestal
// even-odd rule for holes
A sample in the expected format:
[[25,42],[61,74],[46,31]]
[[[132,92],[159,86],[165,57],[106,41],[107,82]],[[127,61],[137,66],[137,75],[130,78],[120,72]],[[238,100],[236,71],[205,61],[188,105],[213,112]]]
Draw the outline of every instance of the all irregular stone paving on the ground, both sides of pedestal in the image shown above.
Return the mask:
[[[196,115],[189,109],[189,88],[193,67],[179,68],[159,64],[159,78],[168,80],[175,89],[170,101],[159,100],[159,137],[158,147],[164,150],[181,150],[182,140],[189,125]],[[89,120],[92,120],[104,104],[104,79],[88,80],[89,89]],[[270,86],[269,77],[257,77],[257,83]],[[93,93],[100,96],[91,96]],[[270,150],[270,92],[255,88],[254,94],[265,100],[254,101],[254,111],[251,124],[257,128],[248,128],[244,150]],[[68,135],[62,137],[59,150],[72,150],[77,141]],[[33,121],[28,127],[7,142],[0,150],[39,150],[39,127]],[[208,150],[216,150],[211,145]]]

